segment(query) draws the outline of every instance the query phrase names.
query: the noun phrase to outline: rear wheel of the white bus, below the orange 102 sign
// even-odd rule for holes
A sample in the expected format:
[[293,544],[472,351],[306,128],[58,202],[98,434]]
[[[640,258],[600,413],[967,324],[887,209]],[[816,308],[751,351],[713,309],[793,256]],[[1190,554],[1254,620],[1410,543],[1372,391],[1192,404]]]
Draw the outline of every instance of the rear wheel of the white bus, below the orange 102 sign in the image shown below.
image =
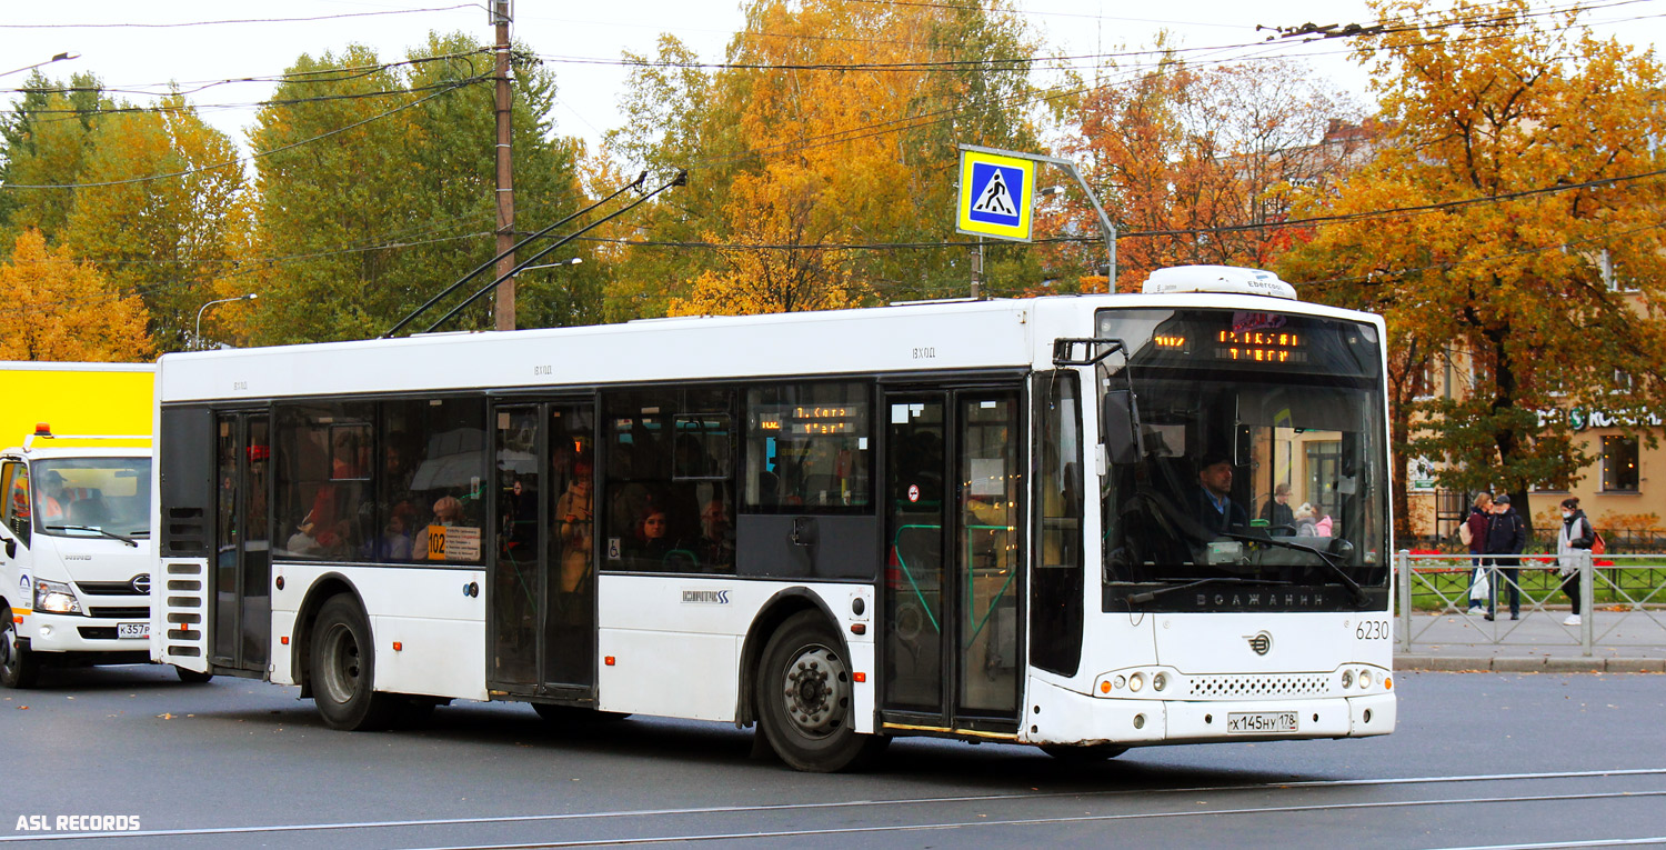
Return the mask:
[[388,728],[398,702],[377,693],[377,647],[353,597],[340,593],[323,603],[308,648],[313,702],[323,722],[350,732]]

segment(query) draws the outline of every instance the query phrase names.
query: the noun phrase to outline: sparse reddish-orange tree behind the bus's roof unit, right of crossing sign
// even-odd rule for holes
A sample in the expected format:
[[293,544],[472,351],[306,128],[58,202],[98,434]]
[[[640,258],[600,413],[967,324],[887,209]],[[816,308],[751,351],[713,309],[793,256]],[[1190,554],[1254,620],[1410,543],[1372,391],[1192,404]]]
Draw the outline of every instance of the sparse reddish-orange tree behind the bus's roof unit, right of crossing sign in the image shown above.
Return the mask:
[[[1163,45],[1160,43],[1160,48]],[[1121,230],[1118,285],[1186,263],[1266,267],[1289,248],[1289,185],[1324,185],[1359,148],[1358,107],[1298,62],[1193,65],[1165,52],[1150,68],[1108,67],[1080,98],[1066,153]],[[1086,202],[1063,217],[1096,232]],[[1103,263],[1098,243],[1083,252]],[[1096,278],[1103,285],[1103,275]]]

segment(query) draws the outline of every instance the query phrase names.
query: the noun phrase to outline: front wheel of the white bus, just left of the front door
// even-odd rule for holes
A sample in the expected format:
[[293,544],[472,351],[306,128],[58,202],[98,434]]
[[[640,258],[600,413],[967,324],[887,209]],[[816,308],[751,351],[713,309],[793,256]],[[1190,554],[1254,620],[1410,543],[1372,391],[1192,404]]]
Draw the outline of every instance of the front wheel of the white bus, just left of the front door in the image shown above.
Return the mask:
[[758,663],[758,727],[788,767],[833,773],[865,767],[891,738],[851,723],[843,642],[820,612],[786,618]]

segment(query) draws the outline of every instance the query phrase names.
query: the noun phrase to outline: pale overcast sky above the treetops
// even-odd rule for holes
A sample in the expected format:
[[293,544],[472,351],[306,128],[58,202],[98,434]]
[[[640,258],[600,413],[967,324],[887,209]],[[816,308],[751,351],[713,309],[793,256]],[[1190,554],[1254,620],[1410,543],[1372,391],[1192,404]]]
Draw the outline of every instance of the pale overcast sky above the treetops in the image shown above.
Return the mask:
[[[1589,0],[1588,5],[1604,7],[1588,17],[1603,35],[1648,47],[1666,32],[1666,0]],[[1258,23],[1366,22],[1363,0],[1018,0],[1018,7],[1050,50],[1066,55],[1148,47],[1156,32],[1166,28],[1181,47],[1221,47],[1198,50],[1193,60],[1266,53],[1308,57],[1314,73],[1333,78],[1361,100],[1366,97],[1366,75],[1346,60],[1343,40],[1256,43],[1268,37],[1256,32]],[[0,73],[73,52],[80,58],[57,62],[45,72],[53,78],[93,72],[107,87],[123,90],[120,97],[138,102],[147,102],[145,92],[157,92],[168,82],[190,90],[217,80],[270,77],[302,53],[340,52],[350,43],[373,48],[387,62],[403,58],[407,48],[425,42],[428,30],[461,30],[480,42],[493,38],[483,5],[451,0],[75,0],[67,5],[5,0],[0,8],[0,57],[5,57]],[[325,20],[165,27],[250,18]],[[625,68],[581,60],[615,62],[623,50],[651,55],[660,33],[670,32],[701,58],[716,62],[740,25],[736,0],[516,0],[511,33],[556,73],[558,130],[595,147],[605,130],[621,123],[616,103]],[[0,87],[17,88],[25,77],[0,77]],[[192,93],[190,100],[202,107],[210,123],[245,143],[243,130],[253,123],[252,103],[270,97],[272,88],[270,82],[217,85]],[[3,97],[10,102],[17,95],[7,92]]]

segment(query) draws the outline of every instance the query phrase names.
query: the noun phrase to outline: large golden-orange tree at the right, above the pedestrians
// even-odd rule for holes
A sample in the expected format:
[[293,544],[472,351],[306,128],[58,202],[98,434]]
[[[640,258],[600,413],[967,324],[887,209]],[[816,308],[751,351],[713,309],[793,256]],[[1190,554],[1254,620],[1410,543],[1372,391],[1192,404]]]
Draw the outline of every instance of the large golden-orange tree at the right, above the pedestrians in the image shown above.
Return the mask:
[[[1666,412],[1666,183],[1646,177],[1661,68],[1526,0],[1374,8],[1383,28],[1358,48],[1386,135],[1336,192],[1306,195],[1298,215],[1331,218],[1281,270],[1308,297],[1386,315],[1396,445],[1446,462],[1444,487],[1503,487],[1531,518],[1533,485],[1591,460],[1564,410]],[[1611,287],[1614,263],[1634,295]],[[1464,387],[1419,398],[1431,365]],[[1403,498],[1404,463],[1394,473]]]

